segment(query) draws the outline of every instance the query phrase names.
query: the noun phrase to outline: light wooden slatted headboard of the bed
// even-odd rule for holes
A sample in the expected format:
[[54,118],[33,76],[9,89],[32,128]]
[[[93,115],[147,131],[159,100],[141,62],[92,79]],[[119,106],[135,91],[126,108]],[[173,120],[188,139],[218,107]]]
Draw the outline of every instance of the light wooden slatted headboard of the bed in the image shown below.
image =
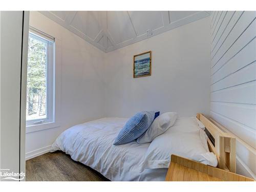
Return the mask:
[[236,173],[236,138],[223,132],[203,114],[198,113],[197,118],[205,126],[209,150],[217,156],[218,167]]

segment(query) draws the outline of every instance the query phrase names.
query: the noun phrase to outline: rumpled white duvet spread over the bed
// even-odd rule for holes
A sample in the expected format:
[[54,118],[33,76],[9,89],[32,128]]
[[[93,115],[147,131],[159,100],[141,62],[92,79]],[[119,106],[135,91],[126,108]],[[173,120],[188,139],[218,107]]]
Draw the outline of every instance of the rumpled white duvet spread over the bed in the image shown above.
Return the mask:
[[141,173],[150,143],[113,145],[127,120],[102,118],[75,125],[58,136],[51,152],[61,150],[111,181],[164,181],[167,168],[145,169]]

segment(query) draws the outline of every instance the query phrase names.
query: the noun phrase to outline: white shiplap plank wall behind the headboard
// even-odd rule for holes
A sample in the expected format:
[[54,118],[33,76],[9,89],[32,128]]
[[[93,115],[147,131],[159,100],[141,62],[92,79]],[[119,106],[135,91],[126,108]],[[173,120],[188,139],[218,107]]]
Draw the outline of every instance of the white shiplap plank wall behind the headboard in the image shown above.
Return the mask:
[[[210,116],[237,141],[237,173],[256,178],[256,12],[211,13]],[[248,147],[244,146],[244,143]]]

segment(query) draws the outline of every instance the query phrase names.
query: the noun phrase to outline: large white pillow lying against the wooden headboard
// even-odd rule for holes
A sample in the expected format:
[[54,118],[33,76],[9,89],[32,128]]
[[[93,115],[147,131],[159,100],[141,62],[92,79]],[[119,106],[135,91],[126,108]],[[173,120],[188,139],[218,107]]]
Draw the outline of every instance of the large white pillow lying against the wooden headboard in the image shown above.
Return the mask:
[[177,119],[172,129],[156,137],[147,148],[142,170],[168,168],[172,154],[211,166],[218,165],[215,154],[209,152],[207,136],[195,118]]

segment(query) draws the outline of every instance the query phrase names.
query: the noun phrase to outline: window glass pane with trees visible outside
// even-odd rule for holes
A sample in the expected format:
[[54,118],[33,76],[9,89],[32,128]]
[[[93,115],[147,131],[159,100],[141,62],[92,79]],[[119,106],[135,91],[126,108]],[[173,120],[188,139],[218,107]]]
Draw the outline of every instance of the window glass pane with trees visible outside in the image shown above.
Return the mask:
[[48,41],[29,35],[27,121],[47,118]]

